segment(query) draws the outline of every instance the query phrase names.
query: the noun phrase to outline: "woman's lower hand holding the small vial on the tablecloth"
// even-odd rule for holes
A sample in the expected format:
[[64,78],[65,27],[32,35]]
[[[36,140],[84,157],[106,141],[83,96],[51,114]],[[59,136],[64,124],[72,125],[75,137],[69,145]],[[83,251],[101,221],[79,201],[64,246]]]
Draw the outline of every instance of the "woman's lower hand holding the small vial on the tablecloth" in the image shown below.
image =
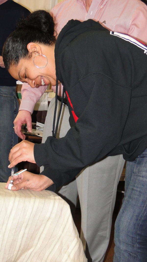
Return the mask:
[[[53,181],[44,176],[44,175],[37,175],[31,172],[25,171],[17,176],[13,176],[14,185],[12,186],[13,191],[17,191],[19,189],[31,189],[35,191],[42,191],[53,185]],[[11,176],[8,179],[5,188],[8,188],[9,180],[11,180]]]

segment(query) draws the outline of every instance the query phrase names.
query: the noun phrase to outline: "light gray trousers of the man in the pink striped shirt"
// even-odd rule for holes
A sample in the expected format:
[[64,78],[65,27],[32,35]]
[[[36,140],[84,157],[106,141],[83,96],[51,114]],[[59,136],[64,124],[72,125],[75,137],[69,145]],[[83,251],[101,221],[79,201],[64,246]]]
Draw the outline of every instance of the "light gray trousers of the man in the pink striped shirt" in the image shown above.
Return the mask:
[[[60,102],[58,101],[57,112]],[[48,107],[43,130],[44,143],[52,135],[55,98]],[[56,138],[64,137],[70,129],[68,107],[63,105]],[[84,168],[76,180],[59,189],[58,193],[70,204],[72,213],[79,195],[81,206],[81,240],[88,262],[102,262],[111,232],[117,184],[125,160],[122,155],[105,157]],[[41,171],[43,167],[41,167]]]

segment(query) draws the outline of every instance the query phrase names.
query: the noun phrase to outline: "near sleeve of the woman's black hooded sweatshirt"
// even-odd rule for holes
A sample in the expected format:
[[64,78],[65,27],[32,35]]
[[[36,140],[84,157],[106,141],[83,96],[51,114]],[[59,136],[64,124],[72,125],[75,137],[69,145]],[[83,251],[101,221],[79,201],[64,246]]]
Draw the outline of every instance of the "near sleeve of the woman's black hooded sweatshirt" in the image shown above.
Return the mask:
[[[78,116],[76,106],[80,106],[80,100],[75,92],[86,83],[91,83],[91,92]],[[72,180],[79,170],[97,162],[120,143],[131,100],[131,88],[102,73],[81,79],[68,93],[78,116],[76,124],[65,137],[48,137],[44,144],[34,146],[35,161],[38,166],[46,166],[42,174],[53,180],[55,188]]]

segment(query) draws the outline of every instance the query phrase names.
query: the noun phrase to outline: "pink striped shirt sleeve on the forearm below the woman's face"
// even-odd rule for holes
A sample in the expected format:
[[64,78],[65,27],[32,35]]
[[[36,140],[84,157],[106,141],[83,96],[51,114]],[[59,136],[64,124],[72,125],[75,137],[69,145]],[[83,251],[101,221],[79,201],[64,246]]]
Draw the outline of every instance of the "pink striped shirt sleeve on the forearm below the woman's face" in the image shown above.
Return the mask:
[[22,100],[19,111],[26,110],[33,113],[34,106],[47,89],[47,85],[32,88],[28,83],[23,83],[21,88]]

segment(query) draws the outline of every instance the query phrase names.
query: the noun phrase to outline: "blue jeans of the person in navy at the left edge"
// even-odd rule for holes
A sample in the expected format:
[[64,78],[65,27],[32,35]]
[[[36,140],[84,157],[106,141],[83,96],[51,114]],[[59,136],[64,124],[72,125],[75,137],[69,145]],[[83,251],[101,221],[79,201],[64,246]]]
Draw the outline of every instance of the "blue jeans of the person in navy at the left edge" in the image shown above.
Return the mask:
[[18,143],[18,136],[13,129],[18,109],[16,86],[0,86],[0,182],[7,182],[11,175],[8,156],[11,148]]

